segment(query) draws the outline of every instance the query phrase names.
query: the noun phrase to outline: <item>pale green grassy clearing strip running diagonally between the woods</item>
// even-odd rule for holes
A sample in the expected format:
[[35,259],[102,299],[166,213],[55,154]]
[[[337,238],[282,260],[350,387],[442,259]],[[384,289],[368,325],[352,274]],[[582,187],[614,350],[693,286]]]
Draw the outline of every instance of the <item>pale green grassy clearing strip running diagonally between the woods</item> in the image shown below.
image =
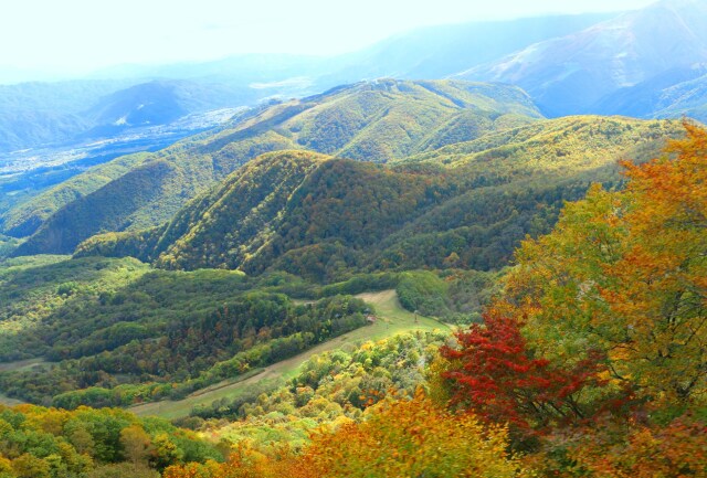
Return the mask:
[[194,392],[184,400],[146,403],[130,407],[130,412],[141,416],[158,415],[165,418],[179,418],[189,415],[191,410],[197,405],[209,405],[221,399],[233,400],[255,383],[258,385],[276,387],[293,378],[302,364],[312,355],[317,353],[336,350],[347,344],[356,344],[367,340],[380,340],[413,330],[431,331],[435,329],[449,329],[449,326],[434,319],[421,316],[415,317],[415,315],[403,309],[400,306],[400,301],[398,300],[398,296],[394,290],[366,293],[360,294],[357,297],[366,300],[374,307],[377,314],[377,320],[374,323],[320,343],[317,347],[291,359],[283,360],[282,362],[277,362],[264,369],[252,371],[247,376],[221,382],[217,385]]

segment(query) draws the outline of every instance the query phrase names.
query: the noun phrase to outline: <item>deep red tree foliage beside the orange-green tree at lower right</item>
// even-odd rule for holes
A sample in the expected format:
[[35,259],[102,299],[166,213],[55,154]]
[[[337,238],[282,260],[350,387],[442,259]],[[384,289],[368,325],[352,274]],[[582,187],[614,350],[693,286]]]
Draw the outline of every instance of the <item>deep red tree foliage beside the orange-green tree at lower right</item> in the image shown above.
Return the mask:
[[587,417],[577,395],[588,385],[601,385],[599,353],[570,370],[534,358],[514,319],[487,314],[483,325],[456,333],[458,347],[443,347],[451,362],[443,373],[452,389],[453,405],[482,418],[509,423],[521,431],[542,428],[552,421]]

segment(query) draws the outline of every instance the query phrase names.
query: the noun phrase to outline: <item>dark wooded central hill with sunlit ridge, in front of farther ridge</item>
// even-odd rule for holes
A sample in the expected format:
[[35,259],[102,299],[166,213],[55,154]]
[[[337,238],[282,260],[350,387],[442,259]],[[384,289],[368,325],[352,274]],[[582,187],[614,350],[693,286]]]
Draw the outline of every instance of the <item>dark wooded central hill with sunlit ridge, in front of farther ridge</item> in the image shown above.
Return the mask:
[[526,234],[548,232],[562,202],[581,198],[591,181],[619,185],[619,159],[647,158],[680,134],[678,123],[570,117],[393,167],[271,153],[166,226],[97,235],[76,254],[133,255],[177,269],[281,269],[319,282],[357,272],[497,268]]

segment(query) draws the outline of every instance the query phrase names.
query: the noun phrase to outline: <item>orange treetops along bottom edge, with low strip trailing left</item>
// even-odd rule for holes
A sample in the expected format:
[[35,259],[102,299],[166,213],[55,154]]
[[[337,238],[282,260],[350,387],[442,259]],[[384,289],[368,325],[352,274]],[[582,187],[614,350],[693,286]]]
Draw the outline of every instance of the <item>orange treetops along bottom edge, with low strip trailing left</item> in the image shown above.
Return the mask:
[[347,423],[312,437],[303,454],[235,449],[224,465],[170,467],[165,478],[339,478],[525,476],[508,456],[506,431],[484,428],[472,415],[454,415],[419,393],[381,402],[362,423]]

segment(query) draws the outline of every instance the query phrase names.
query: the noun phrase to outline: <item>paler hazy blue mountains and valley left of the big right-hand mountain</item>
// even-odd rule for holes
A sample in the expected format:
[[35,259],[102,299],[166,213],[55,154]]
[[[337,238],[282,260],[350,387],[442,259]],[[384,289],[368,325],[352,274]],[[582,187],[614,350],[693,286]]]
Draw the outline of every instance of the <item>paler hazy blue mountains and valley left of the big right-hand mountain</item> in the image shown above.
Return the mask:
[[[467,23],[413,31],[337,57],[240,55],[204,63],[116,66],[83,81],[0,86],[0,153],[110,138],[190,113],[302,97],[361,79],[443,78],[605,18]],[[19,100],[40,97],[41,103]]]

